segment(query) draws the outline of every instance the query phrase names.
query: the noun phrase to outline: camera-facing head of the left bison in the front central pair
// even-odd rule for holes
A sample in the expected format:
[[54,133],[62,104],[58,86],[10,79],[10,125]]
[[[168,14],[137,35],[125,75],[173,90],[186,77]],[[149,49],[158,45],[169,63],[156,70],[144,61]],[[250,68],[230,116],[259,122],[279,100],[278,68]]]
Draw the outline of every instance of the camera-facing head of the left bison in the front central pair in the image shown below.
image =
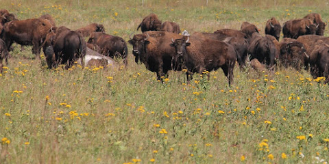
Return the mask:
[[[146,35],[145,35],[146,34]],[[141,55],[146,52],[146,44],[149,43],[149,34],[136,34],[134,38],[132,38],[132,33],[130,34],[128,41],[132,44],[132,54],[135,56],[135,62],[138,63],[138,60],[141,58]]]

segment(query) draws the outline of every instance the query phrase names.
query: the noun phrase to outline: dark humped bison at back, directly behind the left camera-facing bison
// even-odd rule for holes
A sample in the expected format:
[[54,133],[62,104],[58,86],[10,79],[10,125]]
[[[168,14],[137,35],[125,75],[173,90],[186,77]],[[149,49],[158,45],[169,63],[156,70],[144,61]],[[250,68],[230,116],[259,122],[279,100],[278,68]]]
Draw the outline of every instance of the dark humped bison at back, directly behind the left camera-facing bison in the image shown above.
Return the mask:
[[142,23],[138,25],[137,30],[141,27],[142,32],[145,31],[160,31],[161,30],[161,20],[159,20],[158,16],[154,13],[146,16]]

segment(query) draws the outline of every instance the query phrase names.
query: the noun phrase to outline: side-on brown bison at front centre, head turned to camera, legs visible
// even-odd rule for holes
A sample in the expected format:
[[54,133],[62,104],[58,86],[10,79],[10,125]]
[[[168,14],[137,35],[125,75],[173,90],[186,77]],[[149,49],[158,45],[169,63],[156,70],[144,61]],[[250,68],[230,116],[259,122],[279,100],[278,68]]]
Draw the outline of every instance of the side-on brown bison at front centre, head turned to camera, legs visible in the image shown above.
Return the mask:
[[[228,84],[233,83],[233,68],[236,61],[236,50],[230,44],[219,40],[209,40],[191,36],[187,39],[173,40],[170,44],[175,47],[175,61],[181,62],[188,74],[197,72],[202,74],[204,70],[211,71],[221,68],[228,77]],[[209,78],[209,74],[208,74]]]

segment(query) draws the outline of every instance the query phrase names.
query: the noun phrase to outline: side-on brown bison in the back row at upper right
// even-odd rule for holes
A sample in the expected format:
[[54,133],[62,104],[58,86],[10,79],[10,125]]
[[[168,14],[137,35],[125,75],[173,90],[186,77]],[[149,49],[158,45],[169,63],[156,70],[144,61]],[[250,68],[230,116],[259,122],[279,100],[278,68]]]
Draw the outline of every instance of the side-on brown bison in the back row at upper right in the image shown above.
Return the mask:
[[306,34],[315,34],[317,25],[314,25],[310,19],[288,20],[282,27],[283,38],[297,39],[299,36]]

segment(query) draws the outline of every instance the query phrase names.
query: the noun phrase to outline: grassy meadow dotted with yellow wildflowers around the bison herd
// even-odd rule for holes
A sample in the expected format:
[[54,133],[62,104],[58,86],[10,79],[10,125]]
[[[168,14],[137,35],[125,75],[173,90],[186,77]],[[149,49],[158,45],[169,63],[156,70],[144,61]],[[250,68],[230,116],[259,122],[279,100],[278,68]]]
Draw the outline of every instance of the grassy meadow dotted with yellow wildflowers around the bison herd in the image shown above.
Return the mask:
[[[23,20],[51,14],[77,29],[101,23],[106,33],[129,34],[149,13],[182,30],[212,32],[254,23],[264,34],[310,12],[328,23],[327,1],[12,0],[1,1]],[[327,26],[328,28],[328,26]],[[141,33],[137,31],[136,33]],[[328,30],[325,31],[328,36]],[[0,163],[326,163],[329,89],[309,72],[234,68],[169,72],[164,83],[136,64],[127,68],[45,68],[31,47],[16,46],[0,74]],[[122,61],[119,60],[119,62]],[[205,72],[208,73],[208,72]]]

